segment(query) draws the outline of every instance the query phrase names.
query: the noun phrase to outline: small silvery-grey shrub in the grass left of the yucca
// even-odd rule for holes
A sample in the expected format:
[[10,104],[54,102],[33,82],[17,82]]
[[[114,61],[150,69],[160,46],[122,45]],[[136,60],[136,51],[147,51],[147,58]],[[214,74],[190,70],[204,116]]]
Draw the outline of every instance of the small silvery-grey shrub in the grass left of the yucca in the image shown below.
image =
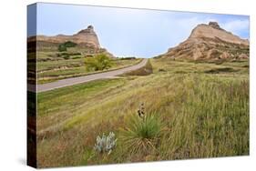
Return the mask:
[[113,148],[116,146],[118,139],[115,139],[115,134],[110,132],[108,136],[97,136],[96,145],[94,149],[99,153],[108,153],[112,152]]

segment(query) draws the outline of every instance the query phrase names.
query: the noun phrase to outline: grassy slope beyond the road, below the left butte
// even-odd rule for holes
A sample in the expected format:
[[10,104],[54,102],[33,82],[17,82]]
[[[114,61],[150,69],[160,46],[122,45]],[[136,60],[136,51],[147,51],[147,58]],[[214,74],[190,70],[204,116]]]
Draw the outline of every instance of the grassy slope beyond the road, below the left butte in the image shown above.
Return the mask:
[[[106,50],[104,49],[98,49],[96,52],[95,49],[75,45],[72,47],[65,47],[65,51],[59,51],[58,44],[45,44],[38,44],[36,51],[36,71],[39,84],[53,82],[68,77],[102,72],[88,71],[85,62],[88,58],[92,58],[95,55],[101,53],[106,54]],[[30,53],[29,55],[33,54]],[[111,67],[109,67],[108,70],[135,65],[138,64],[139,61],[141,61],[141,59],[138,58],[129,58],[128,60],[111,58]]]

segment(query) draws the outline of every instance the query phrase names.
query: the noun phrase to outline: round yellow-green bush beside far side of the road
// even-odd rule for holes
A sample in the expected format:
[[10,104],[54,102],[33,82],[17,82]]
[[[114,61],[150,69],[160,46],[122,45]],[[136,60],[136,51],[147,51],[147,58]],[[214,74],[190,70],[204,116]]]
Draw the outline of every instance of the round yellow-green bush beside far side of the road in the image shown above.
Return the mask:
[[105,54],[95,55],[94,57],[86,58],[86,67],[89,71],[104,70],[111,67],[110,58]]

